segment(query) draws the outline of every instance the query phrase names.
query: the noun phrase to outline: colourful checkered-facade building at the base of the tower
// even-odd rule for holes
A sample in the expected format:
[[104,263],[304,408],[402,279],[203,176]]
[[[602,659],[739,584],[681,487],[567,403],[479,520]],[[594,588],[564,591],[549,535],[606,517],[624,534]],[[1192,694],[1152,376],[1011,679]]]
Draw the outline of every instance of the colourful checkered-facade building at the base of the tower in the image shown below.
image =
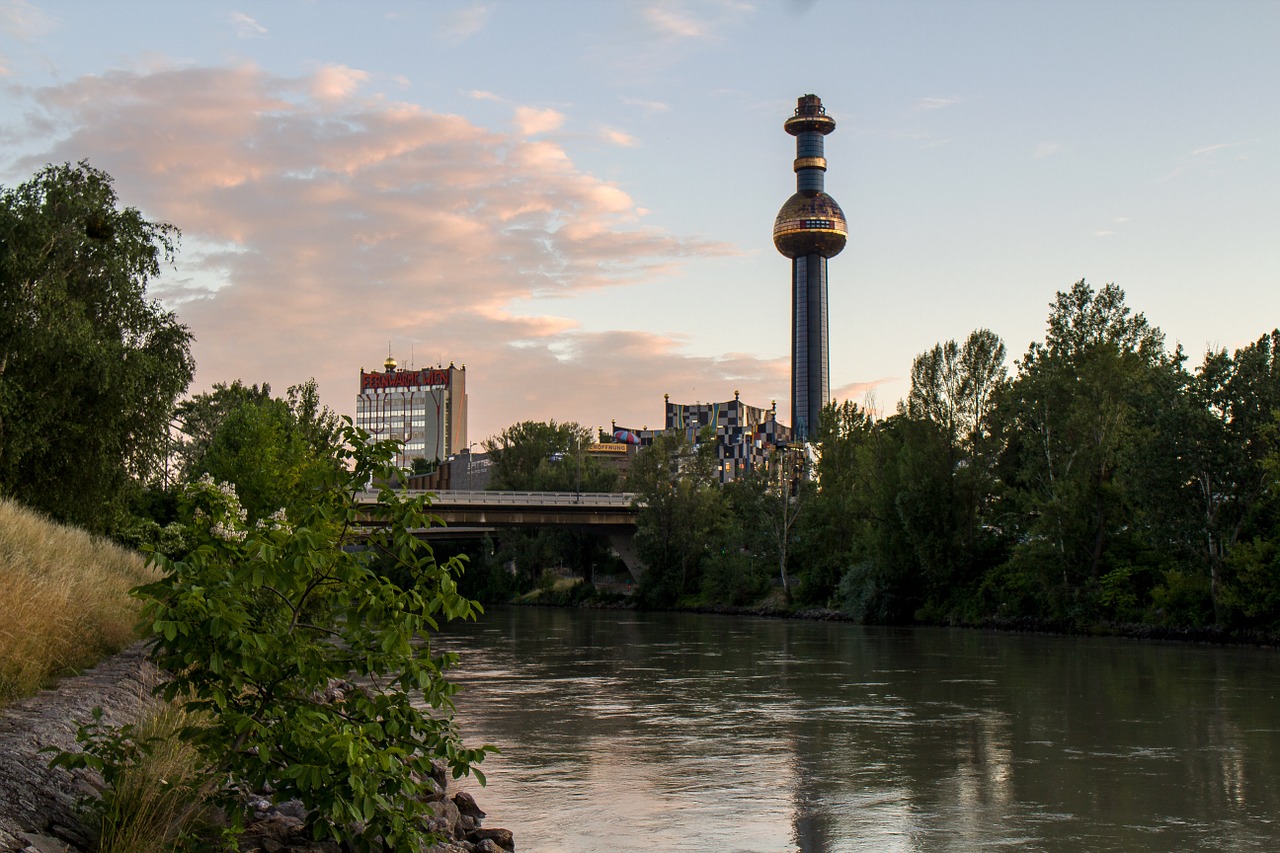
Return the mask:
[[676,432],[696,443],[701,430],[712,426],[721,483],[762,470],[774,450],[791,443],[791,429],[778,423],[777,403],[769,409],[749,406],[739,400],[736,391],[733,398],[726,402],[673,403],[669,394],[664,400],[664,429],[627,429],[614,423],[614,441],[646,447],[657,435]]

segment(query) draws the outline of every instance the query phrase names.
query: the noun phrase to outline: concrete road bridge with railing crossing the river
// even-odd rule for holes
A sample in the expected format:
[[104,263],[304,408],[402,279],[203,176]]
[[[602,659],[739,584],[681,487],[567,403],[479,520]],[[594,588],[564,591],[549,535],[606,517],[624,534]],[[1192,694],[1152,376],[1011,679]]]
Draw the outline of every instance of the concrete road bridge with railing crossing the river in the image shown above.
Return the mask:
[[[443,528],[421,532],[428,539],[472,539],[511,528],[568,528],[603,533],[627,570],[637,580],[644,564],[635,549],[636,516],[634,492],[467,492],[440,489],[397,491],[398,494],[431,496],[431,515]],[[365,492],[361,503],[375,503],[376,492]]]

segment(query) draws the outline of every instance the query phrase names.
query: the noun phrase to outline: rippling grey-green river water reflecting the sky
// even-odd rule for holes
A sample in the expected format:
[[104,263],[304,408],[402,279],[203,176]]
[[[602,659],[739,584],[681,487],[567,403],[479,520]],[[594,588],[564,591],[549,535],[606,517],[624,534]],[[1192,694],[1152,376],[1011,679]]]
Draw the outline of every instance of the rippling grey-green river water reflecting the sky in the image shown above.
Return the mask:
[[522,853],[1280,850],[1280,653],[495,608],[461,654]]

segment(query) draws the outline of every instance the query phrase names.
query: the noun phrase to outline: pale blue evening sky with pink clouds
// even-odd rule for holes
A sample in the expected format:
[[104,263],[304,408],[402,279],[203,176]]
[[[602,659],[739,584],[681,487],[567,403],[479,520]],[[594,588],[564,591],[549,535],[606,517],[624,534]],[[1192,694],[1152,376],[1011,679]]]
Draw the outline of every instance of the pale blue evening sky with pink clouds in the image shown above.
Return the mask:
[[470,439],[790,423],[782,129],[836,119],[831,391],[1115,283],[1189,364],[1280,325],[1277,0],[0,0],[0,184],[88,160],[182,233],[191,392],[467,368]]

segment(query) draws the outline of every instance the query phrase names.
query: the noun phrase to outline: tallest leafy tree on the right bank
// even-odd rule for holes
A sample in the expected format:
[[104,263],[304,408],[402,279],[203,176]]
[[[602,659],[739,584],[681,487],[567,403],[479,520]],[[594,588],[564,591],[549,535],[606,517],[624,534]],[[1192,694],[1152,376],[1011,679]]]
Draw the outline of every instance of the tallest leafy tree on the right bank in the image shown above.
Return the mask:
[[1039,574],[1060,616],[1093,616],[1108,544],[1135,530],[1125,474],[1139,471],[1126,457],[1151,429],[1143,403],[1157,374],[1180,365],[1164,341],[1119,287],[1076,282],[1059,292],[1044,342],[1032,343],[1002,398],[1021,519],[1014,558]]

